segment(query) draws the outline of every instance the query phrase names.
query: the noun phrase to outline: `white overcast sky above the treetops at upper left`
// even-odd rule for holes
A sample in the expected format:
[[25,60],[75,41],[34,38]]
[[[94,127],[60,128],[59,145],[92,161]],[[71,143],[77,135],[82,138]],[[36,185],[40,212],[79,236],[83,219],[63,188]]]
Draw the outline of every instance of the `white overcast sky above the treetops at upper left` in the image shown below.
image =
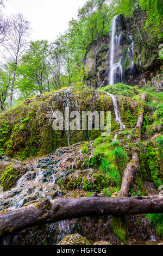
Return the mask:
[[31,22],[32,40],[52,41],[68,28],[86,0],[7,0],[4,12],[22,13]]

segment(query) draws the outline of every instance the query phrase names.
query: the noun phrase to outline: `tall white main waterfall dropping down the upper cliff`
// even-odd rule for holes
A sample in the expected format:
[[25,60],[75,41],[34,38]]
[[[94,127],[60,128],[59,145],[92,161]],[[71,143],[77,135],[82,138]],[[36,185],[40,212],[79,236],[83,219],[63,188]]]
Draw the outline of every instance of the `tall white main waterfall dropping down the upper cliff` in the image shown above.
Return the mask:
[[118,62],[115,63],[115,52],[119,53],[120,46],[121,46],[121,36],[122,33],[118,36],[117,35],[117,29],[116,26],[120,22],[118,19],[119,16],[114,16],[112,20],[112,33],[111,33],[111,47],[110,47],[110,60],[109,60],[109,66],[110,66],[110,72],[109,72],[109,78],[110,82],[109,84],[115,84],[117,82],[123,83],[124,81],[124,71],[121,65],[121,58]]

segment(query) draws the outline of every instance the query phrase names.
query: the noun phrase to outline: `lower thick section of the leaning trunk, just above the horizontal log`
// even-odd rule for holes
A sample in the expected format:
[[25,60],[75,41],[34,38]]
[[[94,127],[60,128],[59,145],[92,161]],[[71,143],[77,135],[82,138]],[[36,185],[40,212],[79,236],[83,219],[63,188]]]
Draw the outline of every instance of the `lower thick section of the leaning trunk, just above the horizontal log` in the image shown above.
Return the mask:
[[139,172],[139,154],[135,151],[131,151],[132,159],[129,162],[127,168],[124,170],[121,190],[117,192],[117,197],[128,197],[131,183],[133,182],[134,176]]

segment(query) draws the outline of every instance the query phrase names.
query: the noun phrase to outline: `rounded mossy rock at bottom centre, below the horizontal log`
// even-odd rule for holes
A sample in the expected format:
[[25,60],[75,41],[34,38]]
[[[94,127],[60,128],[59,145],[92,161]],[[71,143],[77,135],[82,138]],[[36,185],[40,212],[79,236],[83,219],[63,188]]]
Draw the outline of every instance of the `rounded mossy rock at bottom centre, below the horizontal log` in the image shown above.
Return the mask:
[[74,234],[67,235],[62,239],[58,245],[91,245],[90,242],[82,235]]

